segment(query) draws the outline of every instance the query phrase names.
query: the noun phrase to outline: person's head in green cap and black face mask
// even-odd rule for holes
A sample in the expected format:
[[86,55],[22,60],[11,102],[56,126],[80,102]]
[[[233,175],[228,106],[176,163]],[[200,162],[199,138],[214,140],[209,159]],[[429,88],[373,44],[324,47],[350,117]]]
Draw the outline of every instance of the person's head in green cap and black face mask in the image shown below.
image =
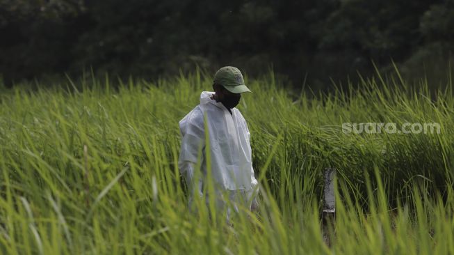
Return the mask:
[[216,93],[216,101],[222,102],[222,105],[228,109],[232,109],[238,105],[241,93],[251,92],[245,86],[240,70],[233,66],[225,66],[216,72],[216,75],[214,75],[213,90]]

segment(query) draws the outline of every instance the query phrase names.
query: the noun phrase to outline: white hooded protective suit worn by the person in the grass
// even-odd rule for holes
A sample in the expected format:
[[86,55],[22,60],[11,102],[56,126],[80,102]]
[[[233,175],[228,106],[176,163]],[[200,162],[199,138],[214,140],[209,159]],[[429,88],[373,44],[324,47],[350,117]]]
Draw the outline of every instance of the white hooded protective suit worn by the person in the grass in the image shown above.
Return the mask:
[[[202,197],[202,180],[206,177],[204,113],[206,114],[211,151],[211,173],[215,183],[216,193],[227,192],[229,200],[234,202],[234,210],[238,212],[236,203],[244,201],[244,206],[257,206],[257,180],[252,168],[252,153],[250,132],[243,115],[238,109],[229,110],[220,102],[210,98],[214,92],[204,91],[200,95],[200,105],[197,105],[181,121],[179,128],[182,135],[179,156],[180,172],[189,182],[190,198]],[[202,178],[199,183],[193,183],[197,164],[197,153],[202,146],[200,155]],[[238,196],[242,196],[239,199]],[[220,198],[216,198],[219,201]],[[225,198],[224,198],[225,199]],[[208,199],[207,199],[208,201]],[[222,201],[222,199],[220,199]],[[222,202],[221,202],[222,203]],[[217,203],[218,208],[224,206]],[[231,208],[227,208],[227,219]]]

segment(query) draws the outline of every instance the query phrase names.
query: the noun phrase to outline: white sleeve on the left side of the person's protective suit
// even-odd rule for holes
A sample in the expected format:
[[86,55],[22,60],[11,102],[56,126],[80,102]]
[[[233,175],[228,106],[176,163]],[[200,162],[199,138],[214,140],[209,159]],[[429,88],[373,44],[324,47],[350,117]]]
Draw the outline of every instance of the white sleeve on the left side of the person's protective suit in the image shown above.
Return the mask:
[[[188,188],[195,192],[199,185],[194,183],[195,166],[197,158],[203,160],[203,149],[205,145],[203,114],[200,108],[190,111],[179,122],[181,132],[181,150],[178,160],[180,173],[186,179]],[[201,153],[201,155],[199,155]]]

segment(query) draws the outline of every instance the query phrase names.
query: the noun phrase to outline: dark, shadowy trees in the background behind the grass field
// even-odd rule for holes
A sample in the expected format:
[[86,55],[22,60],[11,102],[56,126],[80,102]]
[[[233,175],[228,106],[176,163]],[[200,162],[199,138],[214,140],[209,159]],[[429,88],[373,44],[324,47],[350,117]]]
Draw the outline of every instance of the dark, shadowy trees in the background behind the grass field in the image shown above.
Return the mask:
[[195,63],[256,76],[273,64],[316,89],[394,59],[435,86],[453,60],[453,17],[453,0],[0,0],[0,76],[10,86],[92,67],[157,79]]

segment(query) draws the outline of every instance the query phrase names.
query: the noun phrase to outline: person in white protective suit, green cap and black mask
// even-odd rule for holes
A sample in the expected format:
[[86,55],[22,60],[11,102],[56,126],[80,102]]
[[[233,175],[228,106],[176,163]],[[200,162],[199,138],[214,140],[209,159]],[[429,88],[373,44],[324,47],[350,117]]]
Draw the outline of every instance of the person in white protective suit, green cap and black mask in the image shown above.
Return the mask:
[[[178,164],[186,179],[191,207],[194,196],[202,198],[207,190],[204,185],[210,181],[206,178],[206,153],[209,150],[211,181],[215,190],[213,201],[216,201],[217,210],[227,212],[228,222],[232,212],[238,212],[240,206],[249,210],[258,206],[259,187],[252,168],[250,132],[243,115],[235,108],[241,93],[251,91],[245,86],[240,70],[232,66],[216,72],[213,90],[203,91],[200,105],[179,121],[182,141]],[[206,194],[207,204],[212,195]]]

